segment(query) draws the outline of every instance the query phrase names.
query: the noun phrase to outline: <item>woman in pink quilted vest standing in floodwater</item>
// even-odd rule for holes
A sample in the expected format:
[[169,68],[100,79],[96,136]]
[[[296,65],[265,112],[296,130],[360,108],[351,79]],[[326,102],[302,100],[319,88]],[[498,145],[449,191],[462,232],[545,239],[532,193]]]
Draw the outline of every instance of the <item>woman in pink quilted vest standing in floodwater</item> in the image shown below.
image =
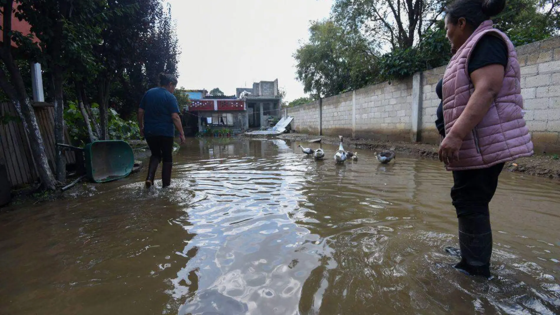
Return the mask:
[[506,161],[533,155],[517,54],[490,20],[504,7],[505,0],[456,0],[447,8],[445,29],[454,56],[438,110],[445,127],[439,156],[453,172],[451,198],[459,219],[461,261],[454,267],[484,277],[491,277],[488,203],[498,176]]

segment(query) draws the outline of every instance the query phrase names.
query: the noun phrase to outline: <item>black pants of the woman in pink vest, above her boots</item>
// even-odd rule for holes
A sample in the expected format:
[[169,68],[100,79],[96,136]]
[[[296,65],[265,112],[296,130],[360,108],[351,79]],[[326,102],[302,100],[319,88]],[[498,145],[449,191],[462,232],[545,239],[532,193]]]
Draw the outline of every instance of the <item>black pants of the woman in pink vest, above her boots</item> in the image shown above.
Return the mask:
[[496,193],[498,177],[503,165],[500,163],[485,169],[453,171],[451,199],[457,217],[489,215],[488,203]]

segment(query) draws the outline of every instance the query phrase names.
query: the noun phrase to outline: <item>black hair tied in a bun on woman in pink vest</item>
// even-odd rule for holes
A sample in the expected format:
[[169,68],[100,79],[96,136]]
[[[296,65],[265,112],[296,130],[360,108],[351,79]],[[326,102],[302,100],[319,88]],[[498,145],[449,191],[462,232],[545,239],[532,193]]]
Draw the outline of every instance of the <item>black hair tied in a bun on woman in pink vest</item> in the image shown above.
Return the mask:
[[445,8],[445,15],[453,24],[463,17],[467,24],[476,29],[482,22],[500,14],[505,7],[506,0],[455,0]]

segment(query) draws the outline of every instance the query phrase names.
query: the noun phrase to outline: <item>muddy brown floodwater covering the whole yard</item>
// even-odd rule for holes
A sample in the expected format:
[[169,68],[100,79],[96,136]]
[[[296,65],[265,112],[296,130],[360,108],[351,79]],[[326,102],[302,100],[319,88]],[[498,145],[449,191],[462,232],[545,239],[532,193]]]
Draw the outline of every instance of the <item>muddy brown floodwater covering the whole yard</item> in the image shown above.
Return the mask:
[[486,281],[443,251],[458,241],[441,164],[335,165],[335,146],[315,161],[297,144],[192,139],[169,189],[142,173],[8,209],[0,314],[560,313],[558,182],[501,175]]

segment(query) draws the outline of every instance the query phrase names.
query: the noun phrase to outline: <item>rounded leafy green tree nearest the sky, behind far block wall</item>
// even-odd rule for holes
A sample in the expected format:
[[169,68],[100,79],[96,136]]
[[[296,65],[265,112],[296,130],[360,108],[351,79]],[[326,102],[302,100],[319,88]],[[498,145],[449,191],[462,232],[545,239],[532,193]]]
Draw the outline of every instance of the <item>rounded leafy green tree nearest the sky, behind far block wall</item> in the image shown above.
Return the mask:
[[376,50],[363,36],[335,22],[315,21],[309,43],[297,49],[297,78],[304,91],[330,96],[362,87],[376,76]]

